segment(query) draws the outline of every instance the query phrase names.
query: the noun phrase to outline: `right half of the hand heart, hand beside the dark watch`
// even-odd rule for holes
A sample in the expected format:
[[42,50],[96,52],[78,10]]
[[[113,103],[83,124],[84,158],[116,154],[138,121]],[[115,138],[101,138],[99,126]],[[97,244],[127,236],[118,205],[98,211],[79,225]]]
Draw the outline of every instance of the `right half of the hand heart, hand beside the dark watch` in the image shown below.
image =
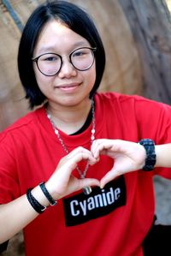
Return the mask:
[[146,156],[144,146],[126,140],[94,140],[91,153],[97,159],[100,158],[101,154],[115,159],[113,168],[103,176],[100,182],[101,188],[117,176],[142,169]]

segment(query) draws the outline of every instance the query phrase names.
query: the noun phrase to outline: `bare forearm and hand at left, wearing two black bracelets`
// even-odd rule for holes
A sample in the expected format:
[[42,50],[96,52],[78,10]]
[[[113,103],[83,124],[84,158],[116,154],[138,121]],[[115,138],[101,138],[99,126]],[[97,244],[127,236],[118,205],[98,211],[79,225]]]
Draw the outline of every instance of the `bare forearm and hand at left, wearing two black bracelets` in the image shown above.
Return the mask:
[[[82,147],[74,149],[61,159],[55,172],[45,184],[53,199],[60,199],[87,186],[99,186],[96,179],[77,179],[72,176],[72,171],[83,159],[90,164],[96,163],[91,152]],[[41,205],[50,205],[39,186],[32,189],[32,195]],[[0,205],[0,244],[9,240],[36,217],[38,213],[28,202],[26,194],[8,204]]]

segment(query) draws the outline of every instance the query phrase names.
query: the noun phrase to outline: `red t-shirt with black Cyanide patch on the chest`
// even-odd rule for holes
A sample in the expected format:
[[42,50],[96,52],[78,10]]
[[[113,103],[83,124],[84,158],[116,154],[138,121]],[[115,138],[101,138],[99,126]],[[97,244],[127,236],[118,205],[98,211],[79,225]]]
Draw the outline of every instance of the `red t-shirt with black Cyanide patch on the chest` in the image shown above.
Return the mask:
[[[95,116],[96,139],[171,142],[171,107],[166,104],[97,93]],[[77,146],[90,149],[91,125],[82,134],[60,134],[69,152]],[[63,156],[44,108],[4,130],[0,135],[0,203],[46,181]],[[101,156],[86,176],[101,179],[112,165],[111,158]],[[79,191],[59,199],[24,229],[27,256],[143,255],[142,241],[155,211],[152,177],[156,173],[171,179],[169,169],[139,170],[117,178],[103,190],[93,188],[90,195]],[[76,170],[74,175],[78,176]]]

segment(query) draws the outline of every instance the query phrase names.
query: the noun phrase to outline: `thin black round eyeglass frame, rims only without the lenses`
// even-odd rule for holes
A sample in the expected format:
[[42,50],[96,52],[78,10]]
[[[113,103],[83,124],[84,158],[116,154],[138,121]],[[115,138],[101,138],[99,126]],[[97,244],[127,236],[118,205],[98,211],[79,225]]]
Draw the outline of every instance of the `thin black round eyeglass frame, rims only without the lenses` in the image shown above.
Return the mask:
[[[74,51],[78,51],[78,50],[80,50],[80,49],[90,49],[90,50],[91,50],[91,54],[92,54],[92,57],[93,57],[93,61],[92,61],[91,65],[90,65],[88,68],[85,68],[85,69],[76,68],[76,67],[74,66],[74,64],[72,63],[72,61],[71,61],[71,56],[72,56],[72,54],[74,53]],[[80,48],[75,49],[74,51],[71,51],[71,53],[70,53],[69,56],[68,56],[68,57],[69,57],[69,62],[73,65],[73,67],[76,68],[76,69],[79,70],[79,71],[85,71],[85,70],[88,70],[89,68],[91,68],[91,66],[93,65],[94,60],[95,60],[94,52],[97,51],[97,48],[96,48],[96,47],[80,47]],[[54,52],[43,53],[43,54],[39,55],[38,57],[32,58],[32,62],[36,63],[36,65],[37,65],[37,67],[38,67],[38,59],[39,59],[40,57],[44,56],[44,55],[47,55],[47,54],[56,55],[57,57],[59,57],[59,58],[61,59],[61,67],[60,67],[59,70],[56,72],[56,74],[58,74],[58,73],[60,72],[61,68],[62,68],[63,60],[62,60],[62,56],[59,55],[59,54],[57,54],[57,53],[54,53]],[[39,67],[38,67],[38,70],[40,71],[40,73],[44,74],[44,73],[40,70]],[[54,75],[56,75],[56,74],[44,74],[44,75],[45,75],[45,76],[54,76]]]

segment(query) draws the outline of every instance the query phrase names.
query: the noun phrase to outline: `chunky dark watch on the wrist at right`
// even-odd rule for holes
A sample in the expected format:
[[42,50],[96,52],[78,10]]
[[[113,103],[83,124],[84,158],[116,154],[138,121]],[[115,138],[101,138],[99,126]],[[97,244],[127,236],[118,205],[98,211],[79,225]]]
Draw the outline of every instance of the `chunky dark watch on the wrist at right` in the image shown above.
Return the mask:
[[155,143],[153,140],[144,139],[140,140],[139,144],[144,146],[146,152],[145,164],[142,168],[143,170],[153,170],[156,164],[156,152],[155,152]]

